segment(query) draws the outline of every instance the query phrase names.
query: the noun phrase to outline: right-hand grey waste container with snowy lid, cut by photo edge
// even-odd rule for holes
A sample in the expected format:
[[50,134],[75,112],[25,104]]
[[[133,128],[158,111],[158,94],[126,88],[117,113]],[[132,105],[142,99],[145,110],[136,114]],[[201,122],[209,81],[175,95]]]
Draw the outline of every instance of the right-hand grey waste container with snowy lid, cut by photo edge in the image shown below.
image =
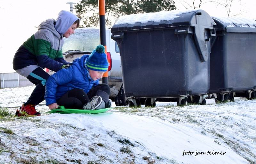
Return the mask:
[[217,37],[212,46],[210,92],[256,89],[256,21],[212,18]]

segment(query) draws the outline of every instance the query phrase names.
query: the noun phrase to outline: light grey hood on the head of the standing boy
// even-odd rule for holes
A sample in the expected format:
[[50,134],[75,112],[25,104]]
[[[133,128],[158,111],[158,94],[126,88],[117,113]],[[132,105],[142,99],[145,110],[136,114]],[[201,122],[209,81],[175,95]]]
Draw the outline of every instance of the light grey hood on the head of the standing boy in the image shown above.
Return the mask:
[[58,18],[55,21],[55,29],[60,34],[64,34],[68,31],[68,28],[71,27],[71,25],[73,25],[77,19],[79,18],[72,12],[62,10],[59,12]]

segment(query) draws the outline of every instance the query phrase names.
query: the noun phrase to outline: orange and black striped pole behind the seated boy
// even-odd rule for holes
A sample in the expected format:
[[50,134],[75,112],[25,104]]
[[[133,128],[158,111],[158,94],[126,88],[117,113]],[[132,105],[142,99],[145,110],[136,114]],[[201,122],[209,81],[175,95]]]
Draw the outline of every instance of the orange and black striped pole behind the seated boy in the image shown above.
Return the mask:
[[[99,15],[100,15],[100,44],[105,47],[107,54],[107,41],[106,41],[106,25],[105,25],[105,0],[99,0]],[[108,84],[108,71],[102,77],[102,83]]]

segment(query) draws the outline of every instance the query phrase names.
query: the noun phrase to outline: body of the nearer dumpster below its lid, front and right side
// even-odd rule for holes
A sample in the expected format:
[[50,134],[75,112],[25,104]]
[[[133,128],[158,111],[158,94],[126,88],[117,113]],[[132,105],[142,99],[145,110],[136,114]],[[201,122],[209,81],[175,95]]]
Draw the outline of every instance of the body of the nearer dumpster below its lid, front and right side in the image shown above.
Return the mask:
[[118,43],[125,96],[208,92],[210,60],[200,61],[193,33],[175,34],[175,28],[125,32]]

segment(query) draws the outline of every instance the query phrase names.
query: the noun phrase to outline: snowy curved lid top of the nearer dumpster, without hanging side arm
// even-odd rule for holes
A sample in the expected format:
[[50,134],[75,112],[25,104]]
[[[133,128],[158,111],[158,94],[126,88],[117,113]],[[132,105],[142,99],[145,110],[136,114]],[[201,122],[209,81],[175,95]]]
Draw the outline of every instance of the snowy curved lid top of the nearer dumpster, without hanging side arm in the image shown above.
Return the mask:
[[[195,15],[200,17],[195,18]],[[198,20],[200,19],[200,20]],[[111,32],[200,24],[213,29],[214,21],[204,10],[159,11],[119,17]]]

